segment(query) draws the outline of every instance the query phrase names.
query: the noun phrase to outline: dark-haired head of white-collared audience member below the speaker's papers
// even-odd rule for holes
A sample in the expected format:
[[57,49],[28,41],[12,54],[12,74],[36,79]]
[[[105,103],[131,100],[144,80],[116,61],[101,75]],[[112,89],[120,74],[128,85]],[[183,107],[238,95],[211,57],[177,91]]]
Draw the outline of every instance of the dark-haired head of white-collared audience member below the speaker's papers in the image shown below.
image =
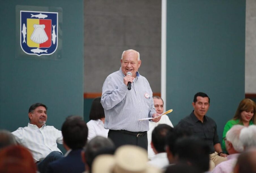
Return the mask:
[[167,132],[172,131],[173,128],[167,124],[159,124],[152,131],[151,147],[157,153],[165,152],[165,137]]

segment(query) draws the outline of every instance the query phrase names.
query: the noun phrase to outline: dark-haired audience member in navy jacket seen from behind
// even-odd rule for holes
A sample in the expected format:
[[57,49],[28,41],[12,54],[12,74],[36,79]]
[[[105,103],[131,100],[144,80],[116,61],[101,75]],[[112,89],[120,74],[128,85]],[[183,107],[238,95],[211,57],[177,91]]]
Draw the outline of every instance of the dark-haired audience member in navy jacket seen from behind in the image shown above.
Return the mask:
[[63,146],[67,150],[64,158],[51,162],[48,172],[81,173],[85,165],[81,158],[81,151],[86,144],[88,128],[79,116],[71,116],[63,123],[61,132],[63,135]]

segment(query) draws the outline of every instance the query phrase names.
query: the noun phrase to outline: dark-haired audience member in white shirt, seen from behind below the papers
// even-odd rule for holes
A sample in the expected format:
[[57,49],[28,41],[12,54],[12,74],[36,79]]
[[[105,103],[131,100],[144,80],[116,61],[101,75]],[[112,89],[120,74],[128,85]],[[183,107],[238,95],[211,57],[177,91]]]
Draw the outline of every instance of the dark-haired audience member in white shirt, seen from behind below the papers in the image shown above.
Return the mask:
[[156,155],[149,161],[150,165],[160,169],[164,169],[169,165],[167,153],[165,152],[165,136],[167,132],[171,130],[172,127],[167,124],[159,124],[154,128],[152,132],[151,147]]

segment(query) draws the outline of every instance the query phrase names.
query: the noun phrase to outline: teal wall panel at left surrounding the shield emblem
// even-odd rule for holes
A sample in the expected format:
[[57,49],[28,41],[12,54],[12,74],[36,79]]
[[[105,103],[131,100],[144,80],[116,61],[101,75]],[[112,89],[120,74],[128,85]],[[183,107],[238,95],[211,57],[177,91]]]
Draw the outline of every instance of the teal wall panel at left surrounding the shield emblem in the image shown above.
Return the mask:
[[[62,8],[61,59],[15,58],[16,5]],[[0,128],[26,126],[35,102],[48,106],[46,124],[58,129],[68,115],[83,116],[83,0],[1,1],[0,22]]]

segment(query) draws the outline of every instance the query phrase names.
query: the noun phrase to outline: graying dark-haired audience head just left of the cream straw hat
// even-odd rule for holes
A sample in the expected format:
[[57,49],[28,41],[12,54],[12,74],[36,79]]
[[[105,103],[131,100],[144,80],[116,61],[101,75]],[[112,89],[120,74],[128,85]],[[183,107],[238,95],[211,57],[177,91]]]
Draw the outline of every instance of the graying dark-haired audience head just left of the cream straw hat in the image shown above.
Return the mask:
[[96,136],[88,144],[86,144],[83,152],[82,159],[85,163],[85,170],[91,172],[92,162],[94,158],[101,154],[114,154],[114,143],[105,137]]

